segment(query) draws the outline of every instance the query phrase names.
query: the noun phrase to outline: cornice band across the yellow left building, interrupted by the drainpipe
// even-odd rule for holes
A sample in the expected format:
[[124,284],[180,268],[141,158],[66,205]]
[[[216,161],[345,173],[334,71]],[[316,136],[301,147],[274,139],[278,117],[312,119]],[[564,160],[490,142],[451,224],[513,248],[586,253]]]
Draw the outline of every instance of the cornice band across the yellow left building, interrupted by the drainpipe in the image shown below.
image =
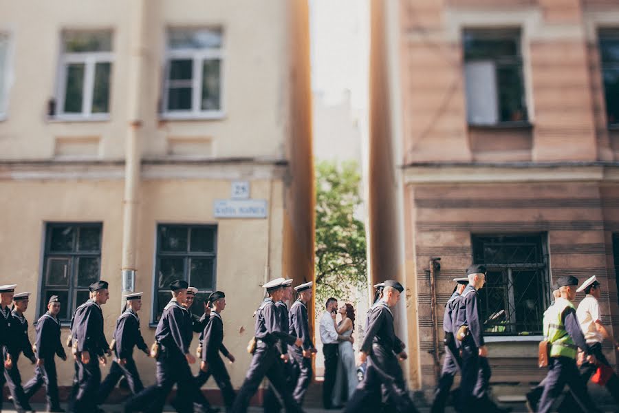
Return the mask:
[[[141,177],[159,179],[283,178],[289,162],[268,158],[145,158]],[[0,180],[123,180],[124,160],[2,160]]]

